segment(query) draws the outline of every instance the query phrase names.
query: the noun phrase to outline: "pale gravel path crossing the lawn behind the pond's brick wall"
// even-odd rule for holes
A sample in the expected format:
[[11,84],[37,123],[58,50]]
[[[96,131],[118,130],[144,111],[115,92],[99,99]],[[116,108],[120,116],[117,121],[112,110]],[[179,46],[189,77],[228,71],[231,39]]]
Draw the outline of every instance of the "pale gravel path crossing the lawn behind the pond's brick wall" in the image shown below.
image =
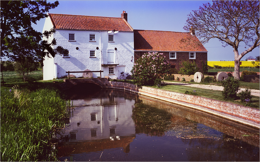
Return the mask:
[[[190,84],[190,83],[182,83],[182,82],[164,82],[167,84],[172,84],[172,85],[182,85],[182,86],[191,86],[191,87],[196,87],[196,88],[202,88],[202,89],[212,89],[212,90],[217,90],[217,91],[223,91],[223,87],[222,86],[216,86],[216,85],[203,85],[203,84]],[[240,90],[238,91],[244,91],[245,88],[240,88]],[[260,90],[257,89],[251,89],[251,95],[253,96],[258,96],[259,97],[260,94]]]

